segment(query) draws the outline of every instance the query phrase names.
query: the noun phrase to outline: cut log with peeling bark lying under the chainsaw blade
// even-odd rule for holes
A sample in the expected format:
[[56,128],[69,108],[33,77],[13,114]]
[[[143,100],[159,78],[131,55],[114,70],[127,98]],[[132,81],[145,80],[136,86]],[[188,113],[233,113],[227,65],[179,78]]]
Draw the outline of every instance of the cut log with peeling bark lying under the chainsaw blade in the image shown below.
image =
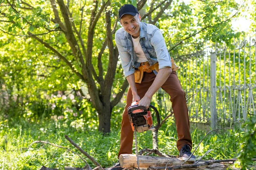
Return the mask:
[[[138,167],[137,166],[137,157],[132,154],[122,154],[119,156],[119,162],[121,167]],[[180,165],[183,161],[177,158],[167,158],[167,157],[157,157],[157,156],[139,156],[140,168],[148,167],[165,167]],[[189,164],[186,162],[185,164]]]

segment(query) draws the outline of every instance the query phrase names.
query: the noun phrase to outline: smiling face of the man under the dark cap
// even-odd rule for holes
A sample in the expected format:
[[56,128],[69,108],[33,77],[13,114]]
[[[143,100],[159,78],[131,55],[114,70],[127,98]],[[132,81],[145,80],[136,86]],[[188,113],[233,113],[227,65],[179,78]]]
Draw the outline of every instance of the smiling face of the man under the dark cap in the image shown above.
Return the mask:
[[140,36],[140,14],[132,16],[130,14],[125,14],[120,19],[121,25],[125,28],[125,31],[131,34],[133,38]]

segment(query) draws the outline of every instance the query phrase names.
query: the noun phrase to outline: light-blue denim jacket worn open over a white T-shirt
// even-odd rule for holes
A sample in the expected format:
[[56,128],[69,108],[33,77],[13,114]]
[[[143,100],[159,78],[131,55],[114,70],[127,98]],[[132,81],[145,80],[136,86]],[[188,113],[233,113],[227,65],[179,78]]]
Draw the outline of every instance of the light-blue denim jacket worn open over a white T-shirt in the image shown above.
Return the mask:
[[[135,68],[140,66],[136,62],[136,54],[131,39],[131,34],[122,27],[115,34],[116,46],[121,58],[125,77],[134,74]],[[160,30],[152,25],[140,22],[140,45],[150,65],[159,63],[159,69],[171,67],[170,54]]]

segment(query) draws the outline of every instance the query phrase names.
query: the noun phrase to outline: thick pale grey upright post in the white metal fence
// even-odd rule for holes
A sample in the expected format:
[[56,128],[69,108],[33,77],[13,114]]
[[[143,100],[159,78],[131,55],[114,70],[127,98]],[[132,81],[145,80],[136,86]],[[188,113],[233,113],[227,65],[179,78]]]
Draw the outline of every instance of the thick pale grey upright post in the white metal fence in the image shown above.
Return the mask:
[[[216,48],[215,48],[216,51]],[[210,112],[211,112],[211,128],[215,128],[217,119],[216,110],[216,52],[212,52],[210,56]]]

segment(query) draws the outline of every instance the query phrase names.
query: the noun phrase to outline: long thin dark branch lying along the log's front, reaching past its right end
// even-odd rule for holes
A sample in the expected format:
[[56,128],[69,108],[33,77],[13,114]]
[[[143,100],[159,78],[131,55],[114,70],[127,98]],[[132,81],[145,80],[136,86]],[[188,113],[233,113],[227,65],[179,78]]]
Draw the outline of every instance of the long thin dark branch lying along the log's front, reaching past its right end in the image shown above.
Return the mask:
[[221,163],[221,162],[230,162],[230,161],[236,161],[237,159],[225,159],[225,160],[216,160],[216,161],[205,161],[202,164],[186,164],[186,165],[175,165],[171,167],[148,167],[147,170],[180,170],[184,168],[196,168],[199,166],[206,166],[210,164],[215,163]]

